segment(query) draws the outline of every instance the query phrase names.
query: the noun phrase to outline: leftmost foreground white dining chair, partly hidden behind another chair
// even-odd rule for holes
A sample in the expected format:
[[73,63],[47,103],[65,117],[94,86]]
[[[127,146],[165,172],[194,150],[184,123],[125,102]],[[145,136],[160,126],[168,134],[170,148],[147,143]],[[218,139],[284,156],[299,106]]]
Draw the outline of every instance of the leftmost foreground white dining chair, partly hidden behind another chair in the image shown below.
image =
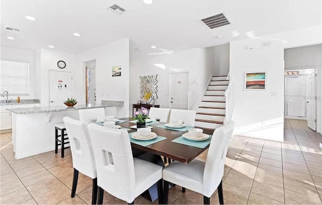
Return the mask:
[[97,173],[93,147],[88,131],[88,123],[74,120],[69,117],[63,118],[68,132],[72,166],[74,174],[70,197],[74,197],[77,188],[78,172],[93,179],[92,204],[97,202]]

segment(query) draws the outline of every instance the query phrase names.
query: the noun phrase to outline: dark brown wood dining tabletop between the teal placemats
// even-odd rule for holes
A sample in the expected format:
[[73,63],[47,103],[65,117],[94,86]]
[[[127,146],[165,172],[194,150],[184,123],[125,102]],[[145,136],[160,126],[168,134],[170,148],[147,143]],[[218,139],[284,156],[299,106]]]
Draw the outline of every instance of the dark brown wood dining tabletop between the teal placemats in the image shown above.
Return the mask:
[[[132,121],[133,119],[132,118],[122,118],[120,120]],[[135,143],[131,143],[131,146],[135,147],[137,149],[141,149],[146,152],[161,155],[161,156],[164,156],[164,157],[167,157],[167,158],[170,158],[170,159],[173,159],[173,160],[185,163],[185,164],[188,164],[194,158],[196,158],[198,155],[200,155],[202,152],[204,152],[206,149],[208,149],[209,145],[206,146],[205,148],[201,149],[198,147],[193,147],[193,146],[189,146],[189,145],[171,142],[172,140],[182,136],[182,134],[184,134],[186,132],[156,127],[158,125],[163,125],[163,124],[165,124],[165,123],[157,123],[157,124],[153,124],[153,125],[149,125],[149,126],[152,127],[152,132],[156,133],[156,135],[158,135],[158,136],[166,137],[167,138],[166,140],[156,142],[156,143],[148,145],[146,147],[140,146]],[[124,122],[124,123],[119,123],[117,125],[120,125],[123,128],[131,129],[130,127],[135,125],[135,123]],[[129,133],[136,132],[136,129],[131,129],[128,132]],[[203,129],[203,132],[208,135],[213,134],[213,130],[209,130],[209,129]]]

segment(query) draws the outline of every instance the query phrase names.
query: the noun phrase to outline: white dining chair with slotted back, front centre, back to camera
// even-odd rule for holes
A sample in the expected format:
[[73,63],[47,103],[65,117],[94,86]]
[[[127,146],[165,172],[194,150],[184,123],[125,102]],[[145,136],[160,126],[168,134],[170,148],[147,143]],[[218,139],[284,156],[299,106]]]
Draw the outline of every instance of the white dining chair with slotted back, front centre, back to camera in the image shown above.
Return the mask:
[[104,190],[129,204],[134,204],[134,199],[156,182],[158,200],[162,203],[163,167],[133,158],[126,130],[91,123],[89,132],[96,159],[98,204],[103,203]]

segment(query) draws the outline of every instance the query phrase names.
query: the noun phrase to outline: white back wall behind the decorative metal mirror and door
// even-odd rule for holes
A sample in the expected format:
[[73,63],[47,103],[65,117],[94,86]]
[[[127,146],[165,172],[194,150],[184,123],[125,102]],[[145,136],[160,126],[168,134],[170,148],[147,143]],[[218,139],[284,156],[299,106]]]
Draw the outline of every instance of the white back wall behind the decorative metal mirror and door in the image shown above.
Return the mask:
[[[160,64],[163,68],[154,64]],[[198,99],[203,96],[204,89],[214,74],[214,49],[213,47],[191,49],[173,54],[151,55],[145,58],[132,59],[130,62],[130,105],[136,104],[140,98],[140,76],[157,74],[158,87],[155,105],[168,108],[169,79],[172,72],[189,72],[190,85],[197,82]],[[130,107],[132,114],[132,107]]]

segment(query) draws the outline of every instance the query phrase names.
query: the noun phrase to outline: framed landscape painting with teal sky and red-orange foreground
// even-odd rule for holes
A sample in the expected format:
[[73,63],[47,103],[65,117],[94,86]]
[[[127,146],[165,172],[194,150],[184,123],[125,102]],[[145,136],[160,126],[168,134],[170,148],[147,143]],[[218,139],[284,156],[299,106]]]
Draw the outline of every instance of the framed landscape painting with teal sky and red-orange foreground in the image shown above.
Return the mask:
[[245,90],[266,90],[266,71],[245,72]]

